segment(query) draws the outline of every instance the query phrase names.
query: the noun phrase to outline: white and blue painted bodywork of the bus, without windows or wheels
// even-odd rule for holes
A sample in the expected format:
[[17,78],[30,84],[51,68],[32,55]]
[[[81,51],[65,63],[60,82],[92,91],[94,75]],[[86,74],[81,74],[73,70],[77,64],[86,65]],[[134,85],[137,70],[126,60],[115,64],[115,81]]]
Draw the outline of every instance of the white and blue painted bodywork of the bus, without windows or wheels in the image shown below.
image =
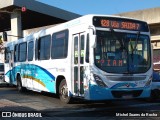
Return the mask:
[[[107,73],[97,68],[94,65],[94,47],[91,46],[91,39],[89,39],[89,62],[86,61],[87,52],[87,37],[92,38],[96,33],[95,30],[103,30],[102,28],[93,26],[92,19],[95,15],[88,15],[75,20],[57,25],[55,27],[41,30],[37,33],[31,34],[26,38],[18,41],[9,42],[5,47],[9,48],[9,61],[5,63],[5,81],[17,85],[17,75],[20,75],[22,86],[34,91],[46,91],[51,93],[58,93],[57,86],[59,77],[64,78],[68,87],[68,96],[82,97],[87,100],[108,100],[108,99],[127,99],[127,98],[146,98],[150,96],[152,66],[145,73],[136,74],[115,74]],[[96,15],[101,16],[101,15]],[[110,17],[110,16],[104,16]],[[115,17],[116,16],[112,16]],[[55,33],[68,30],[68,53],[67,57],[63,59],[37,60],[35,58],[36,40]],[[105,31],[110,31],[105,28]],[[122,33],[136,33],[135,31],[116,30]],[[144,35],[150,35],[149,32],[141,32]],[[60,36],[57,36],[60,37]],[[82,40],[81,37],[84,37]],[[75,47],[76,40],[78,41],[78,49]],[[14,45],[23,42],[34,42],[33,60],[25,62],[14,62]],[[39,40],[40,41],[40,40]],[[82,41],[84,42],[83,44]],[[82,49],[82,46],[84,47]],[[28,47],[27,47],[27,51]],[[52,51],[51,51],[52,52]],[[58,51],[57,51],[58,52]],[[78,54],[77,54],[78,53]],[[51,55],[50,55],[51,56]],[[81,59],[83,63],[81,63]],[[75,62],[77,60],[77,63]],[[94,75],[101,77],[107,87],[101,87],[95,82]],[[127,81],[123,79],[112,80],[110,76],[115,78],[130,76],[132,79],[137,76],[144,79]],[[148,83],[149,82],[149,83]],[[145,86],[146,84],[149,84]],[[83,89],[83,90],[82,90]],[[117,95],[118,94],[118,95]]]

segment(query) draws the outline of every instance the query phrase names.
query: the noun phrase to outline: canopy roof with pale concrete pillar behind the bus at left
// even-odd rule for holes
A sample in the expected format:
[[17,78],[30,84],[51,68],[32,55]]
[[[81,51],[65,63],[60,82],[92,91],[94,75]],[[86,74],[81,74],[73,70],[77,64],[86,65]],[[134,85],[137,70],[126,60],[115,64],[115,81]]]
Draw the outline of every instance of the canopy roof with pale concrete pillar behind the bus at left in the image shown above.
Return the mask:
[[79,16],[35,0],[0,0],[0,32],[8,31],[12,35],[8,36],[9,41],[26,36],[30,33],[28,29],[37,30],[37,27],[63,23]]

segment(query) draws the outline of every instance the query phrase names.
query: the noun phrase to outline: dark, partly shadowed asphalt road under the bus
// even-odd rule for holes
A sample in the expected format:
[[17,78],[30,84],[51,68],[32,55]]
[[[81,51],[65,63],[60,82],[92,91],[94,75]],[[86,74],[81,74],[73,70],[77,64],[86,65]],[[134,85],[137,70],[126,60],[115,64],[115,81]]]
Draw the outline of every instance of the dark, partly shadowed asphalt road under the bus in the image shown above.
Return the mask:
[[[64,104],[54,94],[27,91],[19,93],[15,87],[0,87],[0,112],[3,119],[11,113],[12,119],[159,119],[160,100],[83,101],[75,99]],[[35,116],[36,116],[35,115]],[[18,117],[17,117],[18,116]],[[35,116],[33,116],[35,118]],[[42,116],[42,117],[41,117]],[[1,119],[1,118],[0,118]],[[31,118],[28,118],[31,119]]]

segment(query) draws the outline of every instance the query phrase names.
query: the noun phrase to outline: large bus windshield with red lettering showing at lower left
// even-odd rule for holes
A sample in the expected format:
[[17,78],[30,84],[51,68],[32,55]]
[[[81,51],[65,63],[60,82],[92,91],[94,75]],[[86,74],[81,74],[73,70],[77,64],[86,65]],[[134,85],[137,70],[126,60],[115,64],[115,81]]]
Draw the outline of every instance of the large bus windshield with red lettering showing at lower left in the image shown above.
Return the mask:
[[151,66],[149,36],[96,31],[95,65],[109,73],[144,73]]

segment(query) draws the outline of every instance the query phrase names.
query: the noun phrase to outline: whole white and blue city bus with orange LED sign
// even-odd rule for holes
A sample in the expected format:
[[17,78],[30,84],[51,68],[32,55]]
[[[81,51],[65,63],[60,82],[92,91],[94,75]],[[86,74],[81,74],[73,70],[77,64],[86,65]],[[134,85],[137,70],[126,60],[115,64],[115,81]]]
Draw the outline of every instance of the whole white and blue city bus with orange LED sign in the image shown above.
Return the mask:
[[150,32],[146,22],[86,15],[5,45],[5,81],[71,98],[150,97]]

